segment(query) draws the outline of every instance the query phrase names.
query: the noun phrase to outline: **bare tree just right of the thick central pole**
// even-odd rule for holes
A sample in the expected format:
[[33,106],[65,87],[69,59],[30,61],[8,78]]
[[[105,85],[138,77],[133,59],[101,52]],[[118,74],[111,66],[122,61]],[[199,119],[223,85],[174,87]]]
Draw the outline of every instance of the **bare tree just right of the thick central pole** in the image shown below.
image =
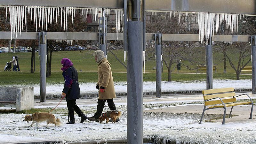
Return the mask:
[[[190,19],[194,14],[191,15],[183,15],[179,18],[179,16],[175,16],[173,18],[168,17],[162,13],[157,13],[157,15],[152,15],[151,18],[153,19],[150,21],[151,23],[146,24],[147,33],[156,33],[160,32],[163,34],[194,34],[198,33],[197,30],[192,29],[190,24]],[[150,43],[150,42],[149,42]],[[172,81],[172,72],[176,68],[176,64],[180,60],[188,61],[190,64],[195,64],[193,60],[193,49],[195,48],[194,42],[171,42],[171,41],[163,41],[162,51],[163,51],[163,61],[165,66],[168,69],[168,81]],[[150,44],[151,45],[151,44]],[[148,47],[147,47],[148,48]],[[152,47],[151,53],[154,53],[154,46]],[[148,53],[147,57],[149,59],[154,58],[153,56],[149,56]],[[175,66],[173,66],[175,64]]]

